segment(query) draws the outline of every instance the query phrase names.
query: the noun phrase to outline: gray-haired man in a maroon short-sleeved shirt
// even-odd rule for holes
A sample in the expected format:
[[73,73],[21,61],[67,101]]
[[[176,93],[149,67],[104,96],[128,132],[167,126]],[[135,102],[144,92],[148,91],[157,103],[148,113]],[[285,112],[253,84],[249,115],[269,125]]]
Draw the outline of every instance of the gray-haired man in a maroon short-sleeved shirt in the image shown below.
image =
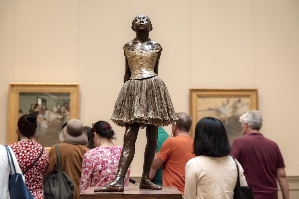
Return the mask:
[[283,157],[277,144],[263,136],[263,118],[259,111],[248,111],[240,117],[243,137],[231,145],[231,156],[242,165],[248,186],[253,186],[255,199],[277,199],[277,180],[283,199],[289,199]]

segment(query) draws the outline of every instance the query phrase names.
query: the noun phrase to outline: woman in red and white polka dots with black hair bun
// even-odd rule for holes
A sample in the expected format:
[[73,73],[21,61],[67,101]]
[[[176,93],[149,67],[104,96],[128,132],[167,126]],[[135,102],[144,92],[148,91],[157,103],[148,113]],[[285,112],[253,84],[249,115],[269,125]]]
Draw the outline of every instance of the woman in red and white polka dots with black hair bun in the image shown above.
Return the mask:
[[34,198],[41,199],[44,198],[43,180],[48,170],[49,156],[47,149],[34,139],[36,129],[36,115],[21,116],[16,130],[20,141],[9,146],[16,155],[28,189]]

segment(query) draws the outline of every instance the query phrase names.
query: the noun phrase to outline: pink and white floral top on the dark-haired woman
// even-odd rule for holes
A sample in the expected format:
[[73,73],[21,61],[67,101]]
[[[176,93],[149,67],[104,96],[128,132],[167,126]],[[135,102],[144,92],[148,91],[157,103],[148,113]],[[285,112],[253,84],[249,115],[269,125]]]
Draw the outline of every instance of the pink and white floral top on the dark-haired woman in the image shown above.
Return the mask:
[[[103,186],[114,180],[123,147],[95,147],[84,154],[80,192],[89,186]],[[130,167],[124,186],[129,186]]]

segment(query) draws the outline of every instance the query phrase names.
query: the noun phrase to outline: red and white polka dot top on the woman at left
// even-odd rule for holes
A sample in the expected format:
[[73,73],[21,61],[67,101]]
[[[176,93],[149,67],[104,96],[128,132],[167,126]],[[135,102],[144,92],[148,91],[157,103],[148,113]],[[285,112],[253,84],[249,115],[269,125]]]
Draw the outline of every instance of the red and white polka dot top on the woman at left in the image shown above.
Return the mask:
[[[9,145],[20,165],[22,172],[26,170],[42,151],[42,145],[35,140],[24,140]],[[44,198],[44,176],[48,170],[49,156],[48,151],[44,148],[42,156],[33,167],[24,175],[26,185],[35,199]]]

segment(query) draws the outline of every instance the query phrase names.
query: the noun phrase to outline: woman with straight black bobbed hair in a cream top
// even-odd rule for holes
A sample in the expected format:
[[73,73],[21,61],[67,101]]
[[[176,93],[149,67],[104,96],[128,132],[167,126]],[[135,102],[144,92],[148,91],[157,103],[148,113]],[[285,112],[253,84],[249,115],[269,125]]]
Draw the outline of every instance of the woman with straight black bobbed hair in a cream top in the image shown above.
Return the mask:
[[[193,143],[196,158],[185,167],[185,192],[188,199],[234,198],[237,167],[228,154],[231,147],[225,128],[219,119],[204,117],[197,122]],[[240,185],[247,186],[244,170],[239,167]]]

